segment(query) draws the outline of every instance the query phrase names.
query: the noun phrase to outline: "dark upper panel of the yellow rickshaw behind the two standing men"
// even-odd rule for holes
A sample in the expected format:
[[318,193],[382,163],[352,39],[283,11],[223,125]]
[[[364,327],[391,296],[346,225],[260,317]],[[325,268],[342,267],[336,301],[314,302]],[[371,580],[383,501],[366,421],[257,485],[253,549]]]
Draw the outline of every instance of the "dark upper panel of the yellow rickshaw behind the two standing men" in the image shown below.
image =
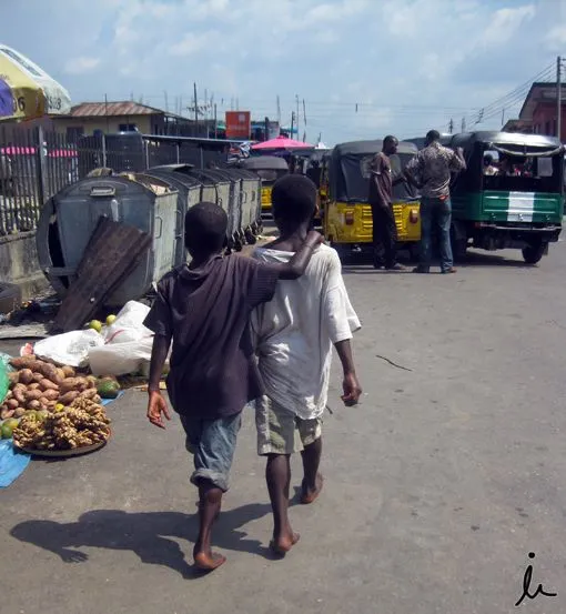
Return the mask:
[[[345,202],[367,202],[370,192],[370,165],[374,155],[344,155],[340,160],[340,172],[336,178],[336,200]],[[401,177],[402,170],[413,158],[411,153],[395,153],[391,155],[392,179]],[[416,190],[407,182],[398,183],[393,188],[395,201],[410,200],[417,197]]]

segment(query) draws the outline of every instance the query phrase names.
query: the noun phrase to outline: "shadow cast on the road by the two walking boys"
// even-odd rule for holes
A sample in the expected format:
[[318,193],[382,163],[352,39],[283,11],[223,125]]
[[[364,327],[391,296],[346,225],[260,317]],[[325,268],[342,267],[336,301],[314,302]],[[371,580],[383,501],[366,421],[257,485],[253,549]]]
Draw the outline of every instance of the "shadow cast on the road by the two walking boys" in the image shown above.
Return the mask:
[[[270,512],[270,505],[260,503],[222,512],[214,527],[214,546],[271,558],[266,546],[257,540],[247,540],[245,531],[237,531]],[[196,514],[93,510],[71,523],[26,521],[16,525],[10,534],[21,542],[57,554],[65,563],[88,561],[89,555],[78,550],[80,547],[131,550],[142,563],[166,566],[185,578],[194,578],[200,577],[202,572],[190,565],[179,544],[168,537],[192,542],[196,531]]]

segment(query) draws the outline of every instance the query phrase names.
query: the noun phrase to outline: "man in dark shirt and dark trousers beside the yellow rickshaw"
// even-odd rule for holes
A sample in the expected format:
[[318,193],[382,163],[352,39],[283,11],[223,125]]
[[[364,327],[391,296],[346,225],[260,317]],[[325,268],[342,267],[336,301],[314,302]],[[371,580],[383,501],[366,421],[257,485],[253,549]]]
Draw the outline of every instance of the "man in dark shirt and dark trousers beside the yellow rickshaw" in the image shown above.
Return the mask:
[[404,178],[393,181],[390,155],[396,153],[398,140],[385,137],[383,149],[372,160],[368,202],[373,218],[373,265],[376,269],[385,266],[392,271],[402,271],[404,266],[397,263],[397,227],[393,214],[393,185]]

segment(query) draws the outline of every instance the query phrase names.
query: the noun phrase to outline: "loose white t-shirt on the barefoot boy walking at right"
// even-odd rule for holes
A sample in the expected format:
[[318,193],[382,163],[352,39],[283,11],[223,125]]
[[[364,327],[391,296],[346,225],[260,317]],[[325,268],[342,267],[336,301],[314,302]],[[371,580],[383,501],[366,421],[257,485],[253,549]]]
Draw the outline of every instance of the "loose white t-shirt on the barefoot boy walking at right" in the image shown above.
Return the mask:
[[[294,254],[259,248],[262,262],[289,262]],[[266,393],[304,420],[326,406],[332,345],[361,328],[332,248],[319,245],[297,280],[279,281],[273,300],[251,316]]]

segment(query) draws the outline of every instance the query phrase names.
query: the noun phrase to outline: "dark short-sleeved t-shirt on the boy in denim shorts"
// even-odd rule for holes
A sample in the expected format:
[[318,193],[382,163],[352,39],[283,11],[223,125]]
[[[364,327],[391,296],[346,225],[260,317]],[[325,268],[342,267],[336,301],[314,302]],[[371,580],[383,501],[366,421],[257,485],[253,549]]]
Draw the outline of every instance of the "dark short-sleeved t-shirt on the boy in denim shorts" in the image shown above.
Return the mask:
[[159,282],[144,325],[173,338],[166,385],[178,413],[218,419],[263,394],[249,316],[271,301],[277,279],[273,268],[231,255],[183,265]]

